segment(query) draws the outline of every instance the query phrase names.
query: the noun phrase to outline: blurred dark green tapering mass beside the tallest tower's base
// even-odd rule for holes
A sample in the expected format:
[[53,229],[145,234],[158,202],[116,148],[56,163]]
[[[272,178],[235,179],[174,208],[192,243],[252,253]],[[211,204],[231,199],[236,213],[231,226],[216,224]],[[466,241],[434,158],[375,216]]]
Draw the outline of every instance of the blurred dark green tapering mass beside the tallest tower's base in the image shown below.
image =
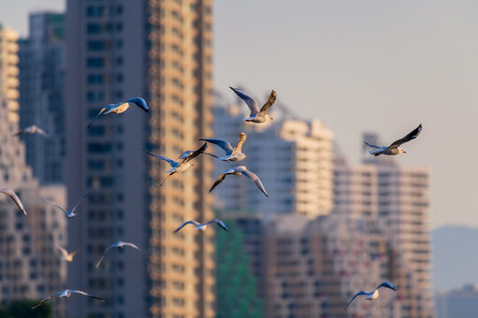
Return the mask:
[[230,231],[218,230],[216,237],[218,318],[262,318],[264,302],[256,291],[249,254],[243,251],[243,232],[234,221]]

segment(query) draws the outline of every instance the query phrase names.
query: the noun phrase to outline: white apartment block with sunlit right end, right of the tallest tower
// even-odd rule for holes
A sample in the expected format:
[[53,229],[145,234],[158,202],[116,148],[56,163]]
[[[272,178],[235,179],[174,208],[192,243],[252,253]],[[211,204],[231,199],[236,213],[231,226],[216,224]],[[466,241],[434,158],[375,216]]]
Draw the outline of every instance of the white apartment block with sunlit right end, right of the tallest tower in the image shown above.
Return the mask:
[[[311,218],[327,215],[333,203],[333,133],[318,119],[246,123],[242,110],[247,107],[232,104],[214,109],[215,138],[234,147],[238,134],[247,133],[243,153],[248,155],[238,163],[217,163],[215,177],[230,167],[245,165],[258,175],[270,198],[248,178],[227,178],[214,190],[217,205]],[[213,147],[216,154],[223,154],[222,149]]]

